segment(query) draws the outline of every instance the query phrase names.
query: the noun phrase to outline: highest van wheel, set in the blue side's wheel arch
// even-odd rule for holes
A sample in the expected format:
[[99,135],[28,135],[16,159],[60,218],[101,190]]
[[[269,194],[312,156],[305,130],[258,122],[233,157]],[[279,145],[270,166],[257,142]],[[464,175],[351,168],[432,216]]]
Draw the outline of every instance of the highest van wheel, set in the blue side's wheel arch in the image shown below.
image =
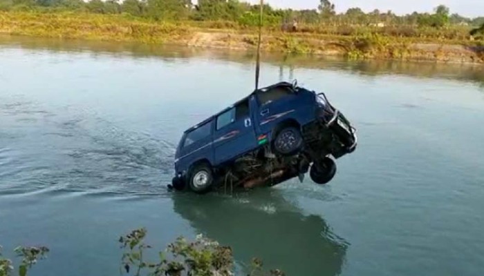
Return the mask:
[[277,132],[272,147],[280,155],[295,155],[303,146],[303,138],[295,127],[283,128]]

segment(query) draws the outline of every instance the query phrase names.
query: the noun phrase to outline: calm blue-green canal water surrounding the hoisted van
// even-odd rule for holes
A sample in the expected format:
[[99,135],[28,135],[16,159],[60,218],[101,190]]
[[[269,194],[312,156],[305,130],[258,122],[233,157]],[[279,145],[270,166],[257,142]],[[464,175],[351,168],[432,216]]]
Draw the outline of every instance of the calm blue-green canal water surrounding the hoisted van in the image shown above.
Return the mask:
[[[203,233],[287,275],[482,275],[484,70],[263,55],[261,85],[326,92],[358,130],[327,186],[167,190],[181,132],[254,88],[254,56],[0,38],[0,244],[31,275],[118,275],[120,235]],[[156,251],[155,250],[155,251]]]

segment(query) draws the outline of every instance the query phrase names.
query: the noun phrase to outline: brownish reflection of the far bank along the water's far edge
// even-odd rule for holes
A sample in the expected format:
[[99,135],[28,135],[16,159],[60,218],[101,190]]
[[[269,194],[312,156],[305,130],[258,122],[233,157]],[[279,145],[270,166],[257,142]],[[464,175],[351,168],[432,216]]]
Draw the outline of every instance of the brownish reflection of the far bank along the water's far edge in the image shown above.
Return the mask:
[[[221,59],[250,64],[253,70],[254,52],[206,50],[201,48],[181,48],[178,46],[159,46],[140,43],[112,43],[107,41],[82,41],[62,39],[39,39],[32,37],[0,36],[1,46],[15,48],[44,49],[56,52],[89,52],[90,55],[113,55],[134,58],[158,57],[166,62],[187,62],[189,57]],[[281,55],[278,53],[263,53],[261,60],[272,66],[289,68],[289,79],[294,79],[297,68],[313,68],[323,70],[344,70],[357,75],[404,75],[410,77],[453,79],[470,81],[484,86],[484,66],[481,64],[447,64],[436,62],[408,61],[352,61],[339,57],[320,57],[308,55]],[[279,79],[283,77],[279,72]]]

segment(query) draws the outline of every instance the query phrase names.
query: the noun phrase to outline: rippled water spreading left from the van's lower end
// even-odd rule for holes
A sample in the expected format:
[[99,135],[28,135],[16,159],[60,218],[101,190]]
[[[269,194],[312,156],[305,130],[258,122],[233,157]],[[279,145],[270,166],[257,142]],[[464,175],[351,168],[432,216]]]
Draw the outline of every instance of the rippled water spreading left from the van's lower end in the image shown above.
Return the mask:
[[[78,110],[79,111],[79,110]],[[0,195],[160,195],[171,179],[174,145],[87,112],[52,112],[31,101],[0,105],[15,119],[0,133]],[[38,137],[43,137],[39,139]],[[32,147],[32,144],[36,146]]]

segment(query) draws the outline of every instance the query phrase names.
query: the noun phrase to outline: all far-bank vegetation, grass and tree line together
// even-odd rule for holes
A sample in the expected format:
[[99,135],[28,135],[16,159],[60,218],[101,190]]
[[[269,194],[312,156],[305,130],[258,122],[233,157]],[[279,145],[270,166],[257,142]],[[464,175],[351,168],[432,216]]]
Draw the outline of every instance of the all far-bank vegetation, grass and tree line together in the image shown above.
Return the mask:
[[[82,0],[0,0],[0,3],[3,3],[0,10],[7,10],[0,12],[0,28],[3,28],[0,31],[11,34],[217,47],[223,44],[237,48],[257,46],[259,7],[238,0],[199,0],[197,6],[191,6],[188,0],[90,0],[86,3]],[[462,24],[465,18],[449,15],[445,6],[438,6],[434,14],[413,12],[404,16],[397,16],[391,10],[365,13],[360,8],[336,14],[333,8],[330,1],[321,1],[320,12],[274,9],[266,4],[263,32],[267,35],[261,47],[297,54],[331,52],[351,58],[400,59],[411,56],[406,45],[413,43],[476,46],[483,39],[479,34],[482,28],[472,30],[471,26]],[[322,11],[331,16],[324,17]],[[297,30],[292,29],[293,21],[297,22]],[[453,22],[459,23],[452,25]],[[230,30],[213,34],[212,30],[201,30],[207,28]],[[206,33],[200,34],[201,31]],[[344,47],[326,48],[337,44]]]

